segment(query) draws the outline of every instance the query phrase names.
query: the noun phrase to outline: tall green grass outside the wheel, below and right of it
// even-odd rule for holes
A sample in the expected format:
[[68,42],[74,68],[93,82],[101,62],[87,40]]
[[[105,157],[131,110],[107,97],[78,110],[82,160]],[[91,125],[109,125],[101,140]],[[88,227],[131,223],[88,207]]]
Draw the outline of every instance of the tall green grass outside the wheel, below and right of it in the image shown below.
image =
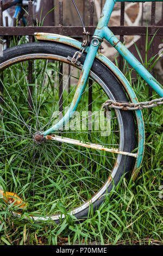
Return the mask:
[[[149,47],[146,42],[146,53]],[[143,60],[142,60],[143,61]],[[144,62],[144,61],[143,61]],[[154,59],[147,61],[147,68]],[[138,96],[139,101],[148,100],[148,86],[137,76],[131,80],[131,72],[125,65],[124,72]],[[157,95],[153,93],[153,97]],[[158,96],[157,96],[158,97]],[[163,185],[163,135],[161,106],[143,110],[146,129],[146,146],[142,167],[134,182],[122,177],[117,188],[106,196],[105,202],[93,216],[81,223],[65,212],[60,224],[32,223],[16,220],[10,207],[0,205],[0,245],[60,245],[74,243],[86,245],[96,241],[102,245],[163,243],[162,199],[159,197]],[[114,197],[111,197],[114,194]]]

